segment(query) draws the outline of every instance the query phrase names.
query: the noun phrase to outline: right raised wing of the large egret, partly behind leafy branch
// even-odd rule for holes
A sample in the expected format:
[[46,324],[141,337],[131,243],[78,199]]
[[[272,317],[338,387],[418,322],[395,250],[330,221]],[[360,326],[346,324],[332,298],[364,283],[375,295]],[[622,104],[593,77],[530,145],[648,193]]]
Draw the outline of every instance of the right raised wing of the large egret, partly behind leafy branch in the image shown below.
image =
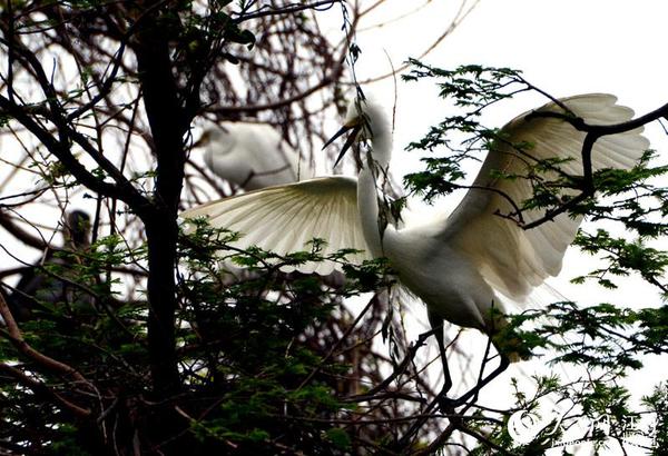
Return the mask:
[[[630,108],[616,105],[616,97],[610,95],[581,95],[561,101],[590,125],[618,123],[633,116]],[[553,102],[537,111],[563,112]],[[503,128],[504,140],[491,148],[473,184],[475,188],[488,190],[470,189],[441,234],[451,247],[461,250],[477,265],[493,287],[519,301],[548,276],[559,274],[563,254],[581,221],[579,217],[563,214],[553,221],[522,230],[514,221],[494,215],[497,211],[513,212],[507,197],[517,205],[532,197],[531,182],[519,176],[527,176],[537,160],[570,159],[559,168],[572,176],[582,175],[584,133],[563,120],[528,118],[529,113],[517,117]],[[600,138],[591,156],[593,169],[631,168],[649,146],[641,132],[642,129],[637,129]],[[520,143],[529,147],[514,147]],[[500,175],[518,178],[504,179]],[[543,175],[550,180],[556,176]],[[543,215],[542,210],[529,210],[523,212],[523,219],[530,222]]]

